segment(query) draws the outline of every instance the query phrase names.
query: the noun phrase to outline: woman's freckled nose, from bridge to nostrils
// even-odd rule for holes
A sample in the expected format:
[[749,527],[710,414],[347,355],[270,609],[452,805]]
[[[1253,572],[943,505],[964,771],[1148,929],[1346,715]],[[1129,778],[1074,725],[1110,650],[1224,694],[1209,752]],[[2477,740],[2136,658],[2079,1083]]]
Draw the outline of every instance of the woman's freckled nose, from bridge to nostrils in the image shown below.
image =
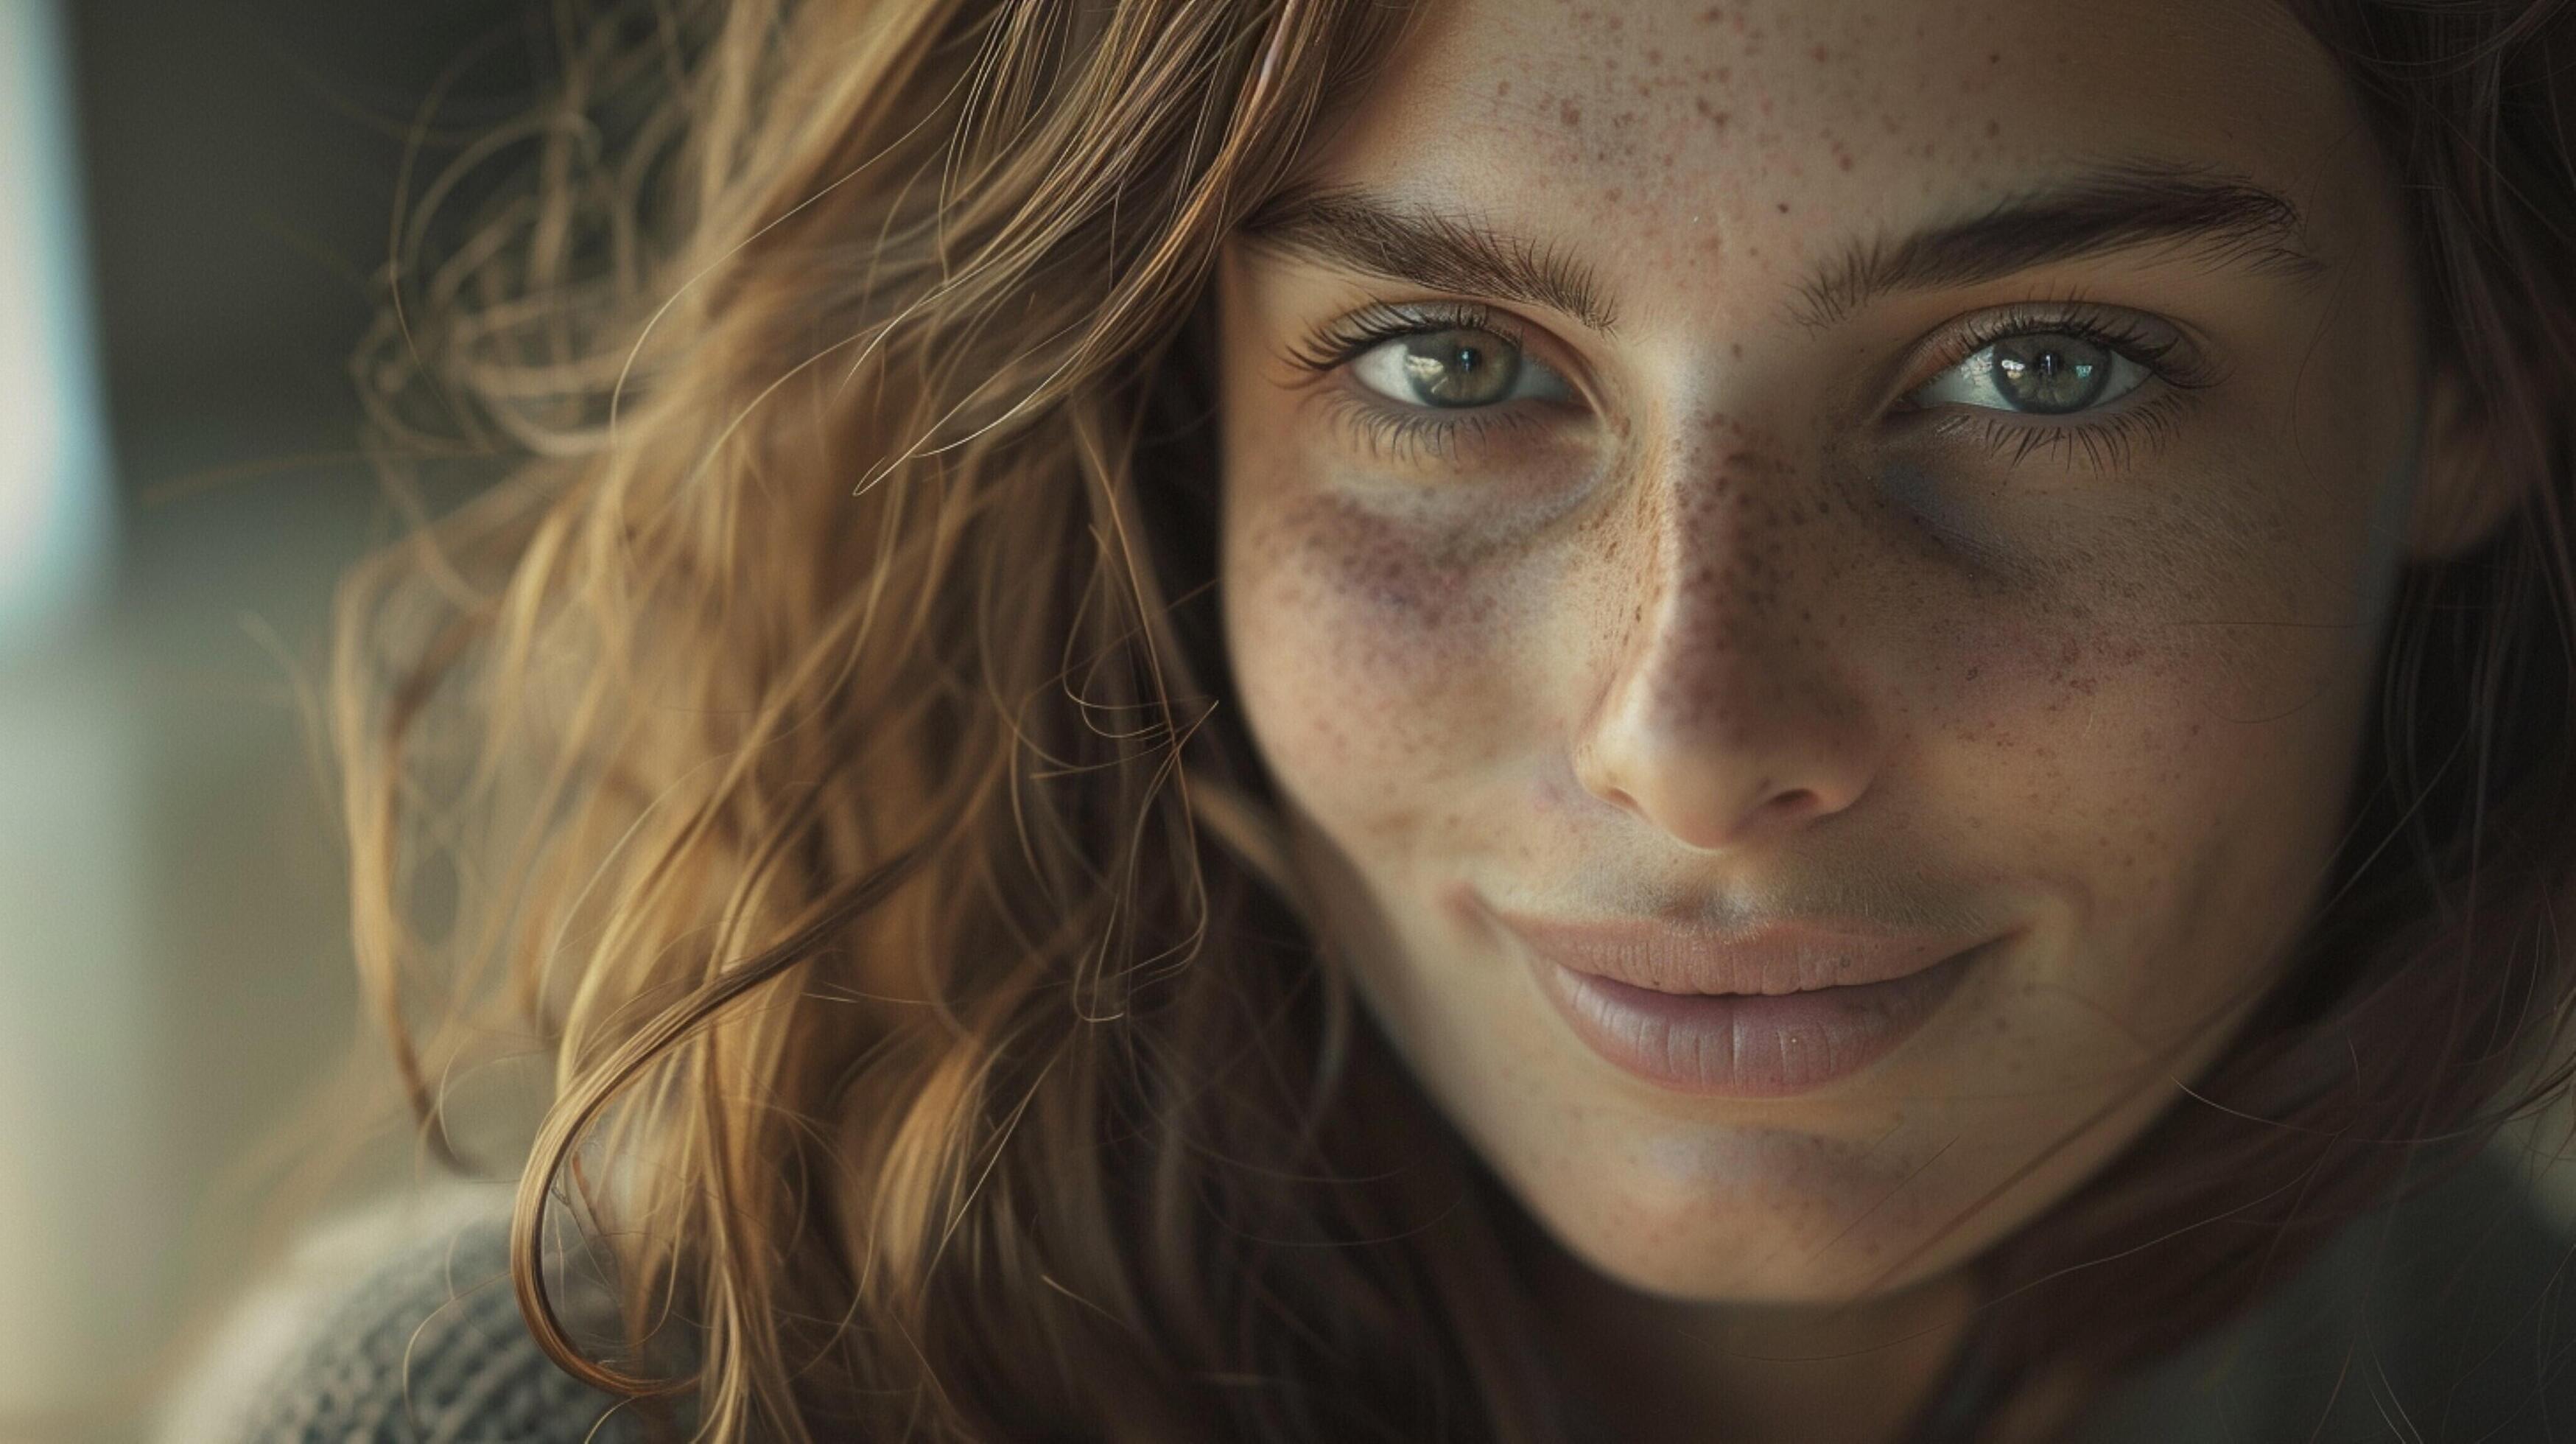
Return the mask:
[[1880,727],[1842,676],[1837,578],[1793,560],[1795,500],[1762,472],[1654,482],[1649,562],[1574,737],[1587,792],[1703,851],[1842,812],[1880,768]]

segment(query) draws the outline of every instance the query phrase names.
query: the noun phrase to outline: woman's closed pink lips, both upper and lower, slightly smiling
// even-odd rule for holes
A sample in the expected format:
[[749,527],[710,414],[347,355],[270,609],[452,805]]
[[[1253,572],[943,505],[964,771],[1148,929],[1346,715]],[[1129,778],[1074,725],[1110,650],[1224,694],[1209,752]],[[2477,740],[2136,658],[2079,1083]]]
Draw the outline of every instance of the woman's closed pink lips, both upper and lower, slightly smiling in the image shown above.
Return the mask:
[[1991,951],[1929,933],[1494,918],[1592,1052],[1659,1088],[1726,1098],[1798,1096],[1865,1070]]

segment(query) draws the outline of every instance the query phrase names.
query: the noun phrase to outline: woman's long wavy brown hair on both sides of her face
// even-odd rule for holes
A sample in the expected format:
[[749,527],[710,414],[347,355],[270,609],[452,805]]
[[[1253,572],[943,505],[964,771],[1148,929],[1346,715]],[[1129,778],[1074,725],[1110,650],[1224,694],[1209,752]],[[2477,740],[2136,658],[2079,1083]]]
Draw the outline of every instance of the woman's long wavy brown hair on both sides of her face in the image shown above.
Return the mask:
[[[2524,503],[2401,585],[2290,982],[1981,1261],[2007,1382],[2187,1338],[2566,1086],[2568,5],[2298,10]],[[332,694],[358,962],[430,1137],[435,1080],[531,1029],[554,1057],[536,1338],[708,1439],[1561,1436],[1512,1204],[1303,923],[1213,645],[1208,273],[1406,10],[567,21],[562,93],[440,193],[531,183],[397,250],[358,361],[397,495],[404,456],[526,462],[350,575]],[[626,1338],[556,1323],[564,1215]]]

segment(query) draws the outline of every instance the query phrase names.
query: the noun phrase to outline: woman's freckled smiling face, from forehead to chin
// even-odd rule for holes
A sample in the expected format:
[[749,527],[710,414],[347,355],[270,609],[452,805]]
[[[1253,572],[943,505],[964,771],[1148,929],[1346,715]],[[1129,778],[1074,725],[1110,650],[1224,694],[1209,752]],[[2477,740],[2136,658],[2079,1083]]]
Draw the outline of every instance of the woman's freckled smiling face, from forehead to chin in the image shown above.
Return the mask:
[[2421,374],[2244,0],[1453,0],[1229,248],[1224,609],[1327,933],[1566,1248],[1945,1271],[2342,841]]

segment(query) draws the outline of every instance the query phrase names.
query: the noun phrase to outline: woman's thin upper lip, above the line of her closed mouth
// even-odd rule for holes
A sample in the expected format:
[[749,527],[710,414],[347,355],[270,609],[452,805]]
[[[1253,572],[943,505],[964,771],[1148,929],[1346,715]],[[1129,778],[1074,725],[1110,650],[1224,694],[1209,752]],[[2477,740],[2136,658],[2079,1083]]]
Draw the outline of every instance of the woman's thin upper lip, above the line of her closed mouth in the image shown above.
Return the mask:
[[1533,951],[1654,993],[1808,993],[1922,972],[1978,936],[1891,933],[1860,923],[1695,928],[1664,921],[1553,923],[1494,910]]

